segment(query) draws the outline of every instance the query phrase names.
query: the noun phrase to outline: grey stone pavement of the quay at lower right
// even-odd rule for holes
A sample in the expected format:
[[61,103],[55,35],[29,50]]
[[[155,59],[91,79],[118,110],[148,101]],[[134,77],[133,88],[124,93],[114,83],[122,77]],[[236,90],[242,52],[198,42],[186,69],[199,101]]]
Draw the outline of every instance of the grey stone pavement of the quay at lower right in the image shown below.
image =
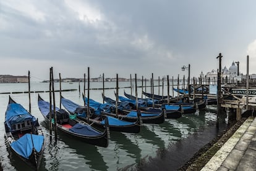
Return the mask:
[[256,170],[256,117],[249,117],[201,171]]

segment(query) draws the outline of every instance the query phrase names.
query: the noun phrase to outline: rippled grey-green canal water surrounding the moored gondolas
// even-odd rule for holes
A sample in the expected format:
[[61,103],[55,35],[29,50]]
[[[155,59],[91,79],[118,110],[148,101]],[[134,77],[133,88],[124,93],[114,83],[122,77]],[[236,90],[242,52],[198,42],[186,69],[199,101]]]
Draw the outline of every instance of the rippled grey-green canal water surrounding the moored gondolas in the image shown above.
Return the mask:
[[[156,82],[155,85],[158,83]],[[115,82],[105,82],[106,88],[115,87]],[[119,82],[119,95],[124,90],[130,93],[130,82]],[[139,85],[139,84],[138,84]],[[144,83],[145,85],[145,83]],[[150,82],[147,82],[150,85]],[[161,84],[160,84],[161,85]],[[55,90],[59,90],[59,83],[55,83]],[[83,104],[82,94],[79,95],[79,83],[62,83],[62,89],[77,89],[62,92],[62,96]],[[80,84],[81,93],[83,84]],[[101,82],[91,82],[93,89],[101,88]],[[48,83],[33,82],[31,91],[46,91]],[[161,88],[160,88],[161,89]],[[26,92],[28,84],[0,84],[2,92]],[[147,88],[150,92],[150,87]],[[158,87],[154,89],[158,93]],[[161,90],[160,90],[161,92]],[[87,94],[87,91],[85,92]],[[103,102],[102,90],[91,90],[90,98]],[[132,92],[134,94],[134,90]],[[161,94],[161,93],[160,93]],[[164,87],[164,94],[167,94]],[[31,170],[23,164],[14,154],[9,153],[4,144],[4,113],[7,108],[9,95],[28,109],[28,93],[0,94],[0,161],[4,170]],[[41,97],[49,100],[49,93],[41,92]],[[59,92],[56,92],[56,106],[59,106]],[[114,89],[105,90],[105,95],[114,98]],[[141,88],[138,89],[141,97]],[[134,170],[137,164],[143,166],[143,170],[177,170],[199,148],[216,137],[216,134],[226,127],[226,121],[221,121],[221,129],[216,130],[216,106],[207,106],[205,110],[194,114],[183,115],[179,119],[166,119],[163,124],[143,124],[140,133],[111,132],[108,148],[88,145],[79,140],[74,140],[60,133],[58,143],[49,142],[49,132],[43,116],[37,105],[38,93],[31,93],[32,114],[38,117],[46,135],[46,149],[40,170]]]

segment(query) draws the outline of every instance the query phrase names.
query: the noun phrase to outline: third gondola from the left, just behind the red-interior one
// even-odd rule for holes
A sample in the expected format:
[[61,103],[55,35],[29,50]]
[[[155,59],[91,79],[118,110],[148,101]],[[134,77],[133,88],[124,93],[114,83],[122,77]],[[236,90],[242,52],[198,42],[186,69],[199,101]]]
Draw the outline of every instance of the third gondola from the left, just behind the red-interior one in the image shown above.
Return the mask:
[[87,122],[87,116],[90,116],[89,122],[96,127],[103,127],[105,123],[105,117],[108,118],[109,130],[117,132],[129,132],[129,133],[139,133],[140,132],[140,116],[137,117],[135,122],[127,122],[117,119],[112,116],[103,116],[101,114],[95,114],[94,110],[90,109],[90,114],[87,114],[88,106],[80,106],[71,100],[61,97],[61,104],[64,108],[69,111],[70,114],[76,115],[79,119]]

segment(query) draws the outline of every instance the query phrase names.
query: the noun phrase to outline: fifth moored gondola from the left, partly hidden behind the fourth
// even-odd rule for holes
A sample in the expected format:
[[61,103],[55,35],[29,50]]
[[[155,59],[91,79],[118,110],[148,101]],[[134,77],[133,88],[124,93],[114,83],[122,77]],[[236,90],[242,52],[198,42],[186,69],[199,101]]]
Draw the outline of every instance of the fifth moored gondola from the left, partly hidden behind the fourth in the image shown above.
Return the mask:
[[[106,103],[111,103],[111,104],[115,104],[116,101],[113,100],[112,98],[106,97],[103,95],[103,99],[106,101]],[[122,98],[122,100],[125,100],[124,98]],[[122,105],[122,103],[125,103],[126,101],[121,101],[119,102],[119,106],[124,106]],[[122,109],[123,111],[130,111],[132,109],[135,109],[135,101],[134,100],[130,100],[130,102],[128,103],[130,108],[128,109]],[[177,119],[179,117],[182,116],[182,109],[181,108],[177,108],[175,110],[166,110],[165,108],[160,108],[161,105],[159,105],[157,108],[151,108],[151,107],[144,107],[144,106],[138,106],[140,111],[142,111],[142,113],[151,113],[151,114],[156,114],[156,113],[162,113],[164,114],[164,117],[166,119]]]

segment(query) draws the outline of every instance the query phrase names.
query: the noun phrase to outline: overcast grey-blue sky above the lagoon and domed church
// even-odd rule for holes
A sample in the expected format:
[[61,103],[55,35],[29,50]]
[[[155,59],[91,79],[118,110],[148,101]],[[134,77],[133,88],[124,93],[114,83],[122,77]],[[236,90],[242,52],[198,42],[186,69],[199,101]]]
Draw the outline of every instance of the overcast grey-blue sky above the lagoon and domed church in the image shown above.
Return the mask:
[[0,1],[0,74],[150,78],[217,70],[239,61],[256,73],[256,2]]

